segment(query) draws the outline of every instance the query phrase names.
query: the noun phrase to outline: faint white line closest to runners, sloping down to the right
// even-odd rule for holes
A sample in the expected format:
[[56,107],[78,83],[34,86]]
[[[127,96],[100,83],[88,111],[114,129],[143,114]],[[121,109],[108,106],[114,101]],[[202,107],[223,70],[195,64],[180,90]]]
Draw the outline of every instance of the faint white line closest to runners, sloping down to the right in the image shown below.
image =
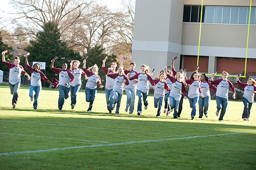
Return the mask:
[[[4,121],[4,120],[0,120],[0,121]],[[42,125],[44,124],[44,123],[35,123],[35,122],[26,122],[26,121],[6,121],[6,122],[26,123],[26,124],[42,124]],[[139,131],[131,131],[131,130],[108,129],[108,128],[99,128],[99,127],[87,127],[87,126],[73,126],[73,125],[66,125],[66,124],[44,124],[44,125],[64,126],[64,127],[83,127],[83,128],[97,129],[97,130],[113,130],[113,131],[124,131],[124,132],[132,132],[132,133],[149,133],[149,134],[170,136],[170,135],[163,134],[163,133],[139,132]],[[186,136],[186,135],[172,135],[172,136]]]

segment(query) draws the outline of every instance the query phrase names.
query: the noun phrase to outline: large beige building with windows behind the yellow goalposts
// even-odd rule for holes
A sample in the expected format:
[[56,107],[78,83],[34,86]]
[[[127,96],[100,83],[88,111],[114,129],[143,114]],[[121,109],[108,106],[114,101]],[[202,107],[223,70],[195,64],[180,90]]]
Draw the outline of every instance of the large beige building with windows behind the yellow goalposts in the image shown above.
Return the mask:
[[[136,0],[132,61],[156,72],[195,70],[201,0]],[[256,75],[256,1],[252,3],[246,72]],[[250,0],[204,0],[199,72],[244,72]],[[155,77],[156,74],[153,76]]]

